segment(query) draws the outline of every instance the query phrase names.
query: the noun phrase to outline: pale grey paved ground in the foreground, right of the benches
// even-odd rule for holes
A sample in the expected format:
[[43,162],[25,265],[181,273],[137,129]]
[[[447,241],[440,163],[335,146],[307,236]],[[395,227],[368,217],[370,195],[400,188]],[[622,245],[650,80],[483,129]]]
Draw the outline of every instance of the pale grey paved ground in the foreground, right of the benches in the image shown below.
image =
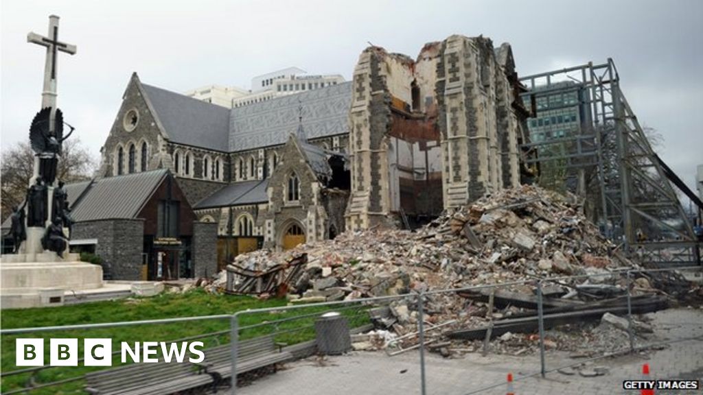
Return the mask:
[[[527,377],[515,382],[515,394],[638,394],[622,389],[622,380],[639,379],[642,364],[650,364],[651,378],[703,377],[703,310],[670,309],[652,315],[657,335],[664,339],[700,337],[676,342],[666,349],[638,355],[595,361],[609,373],[600,377],[581,377],[548,373],[546,378]],[[426,354],[427,394],[465,395],[491,384],[505,382],[505,375],[531,375],[540,370],[539,355],[496,356],[485,358],[469,354],[465,358],[445,359]],[[547,368],[578,362],[565,353],[550,352]],[[672,391],[671,394],[703,394],[703,391]],[[306,395],[409,395],[420,394],[419,354],[411,351],[388,357],[382,352],[359,352],[329,358],[309,358],[289,363],[285,370],[239,388],[237,394]],[[505,385],[479,394],[505,394]],[[657,392],[657,395],[662,394]]]

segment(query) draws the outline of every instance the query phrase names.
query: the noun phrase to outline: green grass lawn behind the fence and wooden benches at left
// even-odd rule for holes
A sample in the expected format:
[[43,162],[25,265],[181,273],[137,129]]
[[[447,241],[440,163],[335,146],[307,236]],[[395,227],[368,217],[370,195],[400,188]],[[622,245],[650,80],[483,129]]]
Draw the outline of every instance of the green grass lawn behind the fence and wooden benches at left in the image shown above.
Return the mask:
[[[253,297],[234,296],[226,294],[209,294],[203,290],[192,290],[186,294],[162,293],[155,297],[122,299],[114,302],[94,302],[73,306],[60,306],[37,309],[16,309],[1,311],[1,328],[33,328],[56,325],[75,325],[89,323],[110,323],[131,320],[153,320],[162,318],[212,316],[232,314],[247,309],[263,309],[285,306],[282,299],[258,300]],[[340,309],[335,309],[339,311]],[[349,317],[352,327],[368,323],[366,307],[354,305],[341,309]],[[314,320],[328,311],[322,306],[308,305],[294,311],[273,311],[250,313],[240,316],[240,339],[262,335],[274,335],[277,342],[295,344],[314,338]],[[295,319],[292,319],[295,318]],[[275,323],[272,323],[274,322]],[[252,326],[253,325],[253,326]],[[250,327],[250,328],[247,328]],[[3,335],[1,368],[3,373],[21,369],[15,366],[15,339],[18,337],[41,337],[44,342],[44,363],[49,363],[49,338],[77,338],[79,358],[82,357],[82,339],[112,338],[112,351],[120,350],[121,342],[165,342],[184,337],[201,336],[225,332],[219,335],[209,335],[198,341],[205,342],[205,347],[213,347],[229,342],[227,333],[230,328],[229,319],[195,320],[185,323],[130,325],[118,328],[98,328],[89,330],[61,330],[53,332],[36,332],[20,335]],[[115,367],[120,365],[120,355],[113,358]],[[107,368],[107,367],[105,367]],[[47,368],[35,374],[32,380],[37,383],[56,382],[71,378],[77,381],[67,382],[59,386],[36,389],[32,394],[82,394],[85,373],[105,369],[84,367],[79,362],[78,367]],[[12,375],[1,378],[0,391],[4,394],[13,389],[25,387],[30,380],[30,373]]]

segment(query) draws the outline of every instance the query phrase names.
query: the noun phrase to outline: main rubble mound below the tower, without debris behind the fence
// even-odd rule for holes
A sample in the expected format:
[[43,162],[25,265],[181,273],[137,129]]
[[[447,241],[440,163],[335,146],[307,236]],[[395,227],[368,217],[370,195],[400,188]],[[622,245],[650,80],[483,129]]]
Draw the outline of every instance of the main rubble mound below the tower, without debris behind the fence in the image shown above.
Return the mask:
[[234,264],[266,271],[307,254],[307,270],[288,284],[290,292],[302,296],[310,289],[334,288],[359,298],[629,265],[610,257],[612,247],[566,197],[522,186],[446,213],[416,232],[346,232],[285,252],[242,254]]

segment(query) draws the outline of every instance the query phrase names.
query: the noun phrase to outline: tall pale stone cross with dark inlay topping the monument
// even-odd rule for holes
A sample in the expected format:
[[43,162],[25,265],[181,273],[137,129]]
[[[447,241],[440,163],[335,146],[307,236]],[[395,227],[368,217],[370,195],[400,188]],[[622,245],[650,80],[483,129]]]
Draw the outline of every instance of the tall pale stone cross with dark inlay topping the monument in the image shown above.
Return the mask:
[[30,32],[27,42],[46,46],[46,63],[44,65],[44,91],[41,92],[41,108],[51,107],[49,131],[53,132],[54,116],[56,115],[56,56],[57,51],[76,53],[76,46],[58,41],[58,16],[49,16],[49,37]]

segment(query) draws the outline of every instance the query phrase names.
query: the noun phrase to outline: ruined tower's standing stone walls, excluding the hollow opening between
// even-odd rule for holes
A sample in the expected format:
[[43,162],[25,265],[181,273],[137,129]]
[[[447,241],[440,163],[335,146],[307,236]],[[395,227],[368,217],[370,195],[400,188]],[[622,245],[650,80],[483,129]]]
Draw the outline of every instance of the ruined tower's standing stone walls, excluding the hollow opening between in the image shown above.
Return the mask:
[[[389,185],[397,180],[390,179],[385,153],[398,119],[436,119],[444,208],[517,185],[517,134],[524,114],[513,109],[515,84],[510,46],[496,51],[484,37],[454,35],[425,44],[414,61],[377,46],[363,51],[354,69],[349,114],[347,229],[388,224],[394,214]],[[401,117],[394,120],[391,114]]]

